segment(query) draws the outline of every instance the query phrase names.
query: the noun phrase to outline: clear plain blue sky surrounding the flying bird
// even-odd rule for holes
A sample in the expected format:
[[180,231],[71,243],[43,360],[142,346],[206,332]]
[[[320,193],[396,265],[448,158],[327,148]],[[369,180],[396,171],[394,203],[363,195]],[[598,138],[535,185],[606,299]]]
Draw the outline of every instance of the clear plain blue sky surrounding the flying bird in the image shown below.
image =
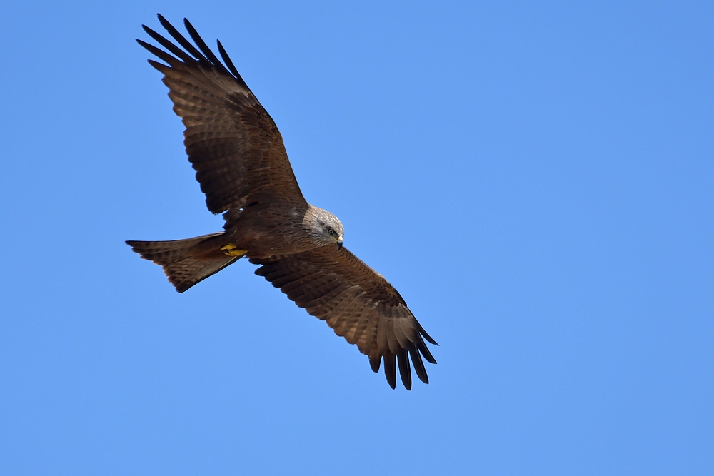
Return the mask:
[[[135,38],[220,38],[311,203],[441,347],[429,385],[246,261]],[[6,1],[0,474],[714,472],[711,2]]]

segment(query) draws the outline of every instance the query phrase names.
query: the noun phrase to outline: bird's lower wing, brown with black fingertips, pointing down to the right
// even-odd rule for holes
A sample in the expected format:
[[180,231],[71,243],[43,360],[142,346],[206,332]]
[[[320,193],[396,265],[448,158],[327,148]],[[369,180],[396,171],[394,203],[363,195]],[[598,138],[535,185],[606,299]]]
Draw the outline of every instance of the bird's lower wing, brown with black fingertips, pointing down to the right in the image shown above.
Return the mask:
[[[280,288],[309,314],[325,320],[337,335],[356,344],[368,355],[372,370],[384,374],[391,388],[396,385],[398,363],[402,383],[411,390],[411,357],[416,375],[429,383],[422,360],[436,363],[424,339],[434,345],[391,284],[346,248],[323,246],[296,255],[265,260],[256,274]],[[396,362],[395,362],[396,360]]]

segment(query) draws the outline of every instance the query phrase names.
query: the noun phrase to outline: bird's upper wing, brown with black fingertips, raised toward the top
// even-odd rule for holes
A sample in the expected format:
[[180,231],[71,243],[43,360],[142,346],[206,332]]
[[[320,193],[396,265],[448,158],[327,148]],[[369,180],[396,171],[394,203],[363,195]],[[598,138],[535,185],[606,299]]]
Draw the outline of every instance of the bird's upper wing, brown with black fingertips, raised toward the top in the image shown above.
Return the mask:
[[188,20],[183,23],[198,48],[163,16],[159,15],[159,21],[180,46],[145,25],[146,33],[169,53],[136,41],[166,63],[149,60],[164,74],[174,111],[186,126],[183,144],[206,194],[208,210],[221,213],[275,201],[306,207],[280,131],[221,42],[218,51],[225,66]]

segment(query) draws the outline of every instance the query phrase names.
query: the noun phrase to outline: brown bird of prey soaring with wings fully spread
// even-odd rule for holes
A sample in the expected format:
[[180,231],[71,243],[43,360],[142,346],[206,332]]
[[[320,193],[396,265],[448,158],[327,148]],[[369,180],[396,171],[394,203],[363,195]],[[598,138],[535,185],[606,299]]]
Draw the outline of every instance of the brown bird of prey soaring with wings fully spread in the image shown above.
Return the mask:
[[164,50],[136,41],[164,61],[149,64],[164,74],[174,112],[186,126],[183,144],[206,206],[223,213],[226,223],[223,231],[196,238],[126,243],[161,265],[179,293],[245,256],[260,265],[257,275],[356,344],[374,372],[383,360],[391,388],[398,367],[411,390],[410,357],[428,383],[422,357],[436,360],[424,340],[438,344],[397,290],[343,247],[338,218],[303,198],[278,128],[221,42],[223,62],[188,20],[195,46],[163,16],[159,21],[174,41],[146,25],[144,31]]

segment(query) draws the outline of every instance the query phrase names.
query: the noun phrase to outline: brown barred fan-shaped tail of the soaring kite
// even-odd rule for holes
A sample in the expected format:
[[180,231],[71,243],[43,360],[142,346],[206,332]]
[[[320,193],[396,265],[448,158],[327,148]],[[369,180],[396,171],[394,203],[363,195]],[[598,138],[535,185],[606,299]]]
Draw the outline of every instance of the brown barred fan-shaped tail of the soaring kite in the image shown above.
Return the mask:
[[226,256],[218,248],[213,252],[207,250],[198,252],[198,245],[211,238],[223,235],[223,232],[211,235],[196,236],[186,240],[171,241],[127,241],[131,249],[141,255],[141,258],[153,261],[164,268],[169,282],[179,293],[191,286],[218,273],[226,266],[241,259],[241,256]]

